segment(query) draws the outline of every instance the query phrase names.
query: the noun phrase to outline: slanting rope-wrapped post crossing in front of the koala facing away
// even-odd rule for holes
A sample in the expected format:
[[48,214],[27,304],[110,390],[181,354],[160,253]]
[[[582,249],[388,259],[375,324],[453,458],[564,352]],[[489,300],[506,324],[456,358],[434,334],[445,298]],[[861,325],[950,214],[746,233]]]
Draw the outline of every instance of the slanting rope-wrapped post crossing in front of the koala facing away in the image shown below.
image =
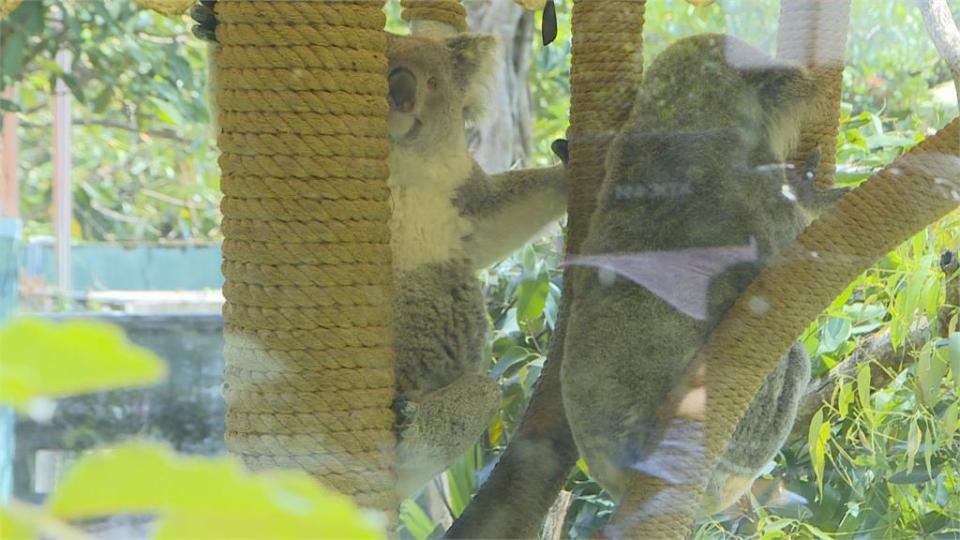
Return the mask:
[[[764,377],[793,341],[870,264],[960,206],[960,119],[914,147],[814,221],[738,298],[692,363],[706,366],[706,459],[684,454],[693,482],[642,477],[636,493],[669,498],[631,523],[630,538],[682,538],[710,471]],[[665,410],[673,407],[665,407]],[[697,481],[699,480],[699,482]]]

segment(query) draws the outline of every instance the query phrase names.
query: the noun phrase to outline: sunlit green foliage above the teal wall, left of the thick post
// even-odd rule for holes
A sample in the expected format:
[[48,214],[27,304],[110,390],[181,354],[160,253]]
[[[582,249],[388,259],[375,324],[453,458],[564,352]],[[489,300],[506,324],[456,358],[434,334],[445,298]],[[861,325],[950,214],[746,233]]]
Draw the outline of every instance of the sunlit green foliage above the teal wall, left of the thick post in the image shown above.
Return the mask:
[[[4,86],[18,80],[21,212],[52,233],[52,88],[73,92],[74,236],[194,240],[219,235],[204,45],[186,18],[135,2],[23,2],[0,26]],[[69,73],[56,51],[73,52]]]

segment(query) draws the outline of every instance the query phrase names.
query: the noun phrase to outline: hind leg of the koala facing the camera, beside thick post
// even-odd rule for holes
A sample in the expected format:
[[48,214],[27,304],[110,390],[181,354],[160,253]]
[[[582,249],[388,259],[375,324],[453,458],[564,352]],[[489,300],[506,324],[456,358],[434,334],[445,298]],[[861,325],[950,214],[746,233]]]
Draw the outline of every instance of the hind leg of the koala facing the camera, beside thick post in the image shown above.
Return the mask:
[[426,394],[400,403],[397,493],[409,497],[477,442],[500,405],[496,382],[468,373]]

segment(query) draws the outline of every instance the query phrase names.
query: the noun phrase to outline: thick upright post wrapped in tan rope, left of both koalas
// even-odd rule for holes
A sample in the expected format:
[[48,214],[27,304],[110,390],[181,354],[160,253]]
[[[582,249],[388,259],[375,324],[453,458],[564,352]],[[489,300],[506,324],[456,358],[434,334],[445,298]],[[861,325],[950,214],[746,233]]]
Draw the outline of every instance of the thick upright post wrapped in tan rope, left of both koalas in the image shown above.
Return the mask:
[[227,446],[393,516],[381,0],[218,2]]

